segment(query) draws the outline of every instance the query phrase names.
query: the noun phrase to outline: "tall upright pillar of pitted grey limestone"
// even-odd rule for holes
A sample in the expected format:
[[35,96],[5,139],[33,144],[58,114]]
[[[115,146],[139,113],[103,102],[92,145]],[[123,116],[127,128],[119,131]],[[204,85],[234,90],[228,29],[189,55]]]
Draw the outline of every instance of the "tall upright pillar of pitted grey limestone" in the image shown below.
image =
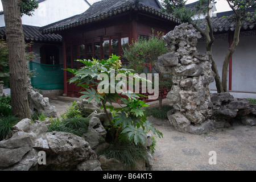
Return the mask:
[[176,26],[163,36],[168,53],[158,57],[157,67],[172,76],[174,85],[167,98],[174,106],[168,118],[179,131],[207,133],[212,127],[213,104],[210,100],[210,82],[214,81],[210,52],[196,49],[199,32],[188,23]]

